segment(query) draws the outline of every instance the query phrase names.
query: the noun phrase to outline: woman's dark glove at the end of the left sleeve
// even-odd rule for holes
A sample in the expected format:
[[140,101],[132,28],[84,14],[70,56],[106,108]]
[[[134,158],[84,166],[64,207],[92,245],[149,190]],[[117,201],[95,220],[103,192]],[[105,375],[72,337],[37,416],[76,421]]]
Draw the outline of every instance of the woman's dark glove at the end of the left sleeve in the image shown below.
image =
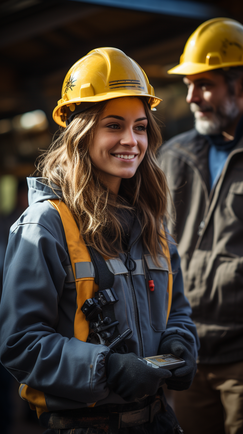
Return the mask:
[[171,372],[162,368],[151,368],[134,353],[108,353],[105,357],[108,388],[125,399],[139,401],[155,395]]

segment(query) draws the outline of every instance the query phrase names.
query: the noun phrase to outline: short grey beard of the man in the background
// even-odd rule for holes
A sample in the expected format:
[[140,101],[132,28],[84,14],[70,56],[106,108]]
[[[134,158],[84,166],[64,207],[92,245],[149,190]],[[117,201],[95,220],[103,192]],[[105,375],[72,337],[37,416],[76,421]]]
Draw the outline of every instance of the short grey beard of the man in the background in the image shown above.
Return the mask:
[[211,135],[220,134],[227,126],[239,115],[239,109],[234,99],[228,99],[216,113],[211,112],[210,120],[204,116],[197,118],[196,112],[200,111],[200,106],[192,102],[190,110],[194,113],[195,128],[199,134]]

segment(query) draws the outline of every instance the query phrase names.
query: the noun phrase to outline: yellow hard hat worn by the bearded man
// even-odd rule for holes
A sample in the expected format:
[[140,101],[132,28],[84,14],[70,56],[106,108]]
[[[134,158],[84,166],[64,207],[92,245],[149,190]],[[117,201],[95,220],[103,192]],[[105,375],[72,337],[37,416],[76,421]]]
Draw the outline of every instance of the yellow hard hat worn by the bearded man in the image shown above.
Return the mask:
[[193,75],[243,66],[243,25],[230,18],[213,18],[197,27],[188,39],[180,64],[168,74]]

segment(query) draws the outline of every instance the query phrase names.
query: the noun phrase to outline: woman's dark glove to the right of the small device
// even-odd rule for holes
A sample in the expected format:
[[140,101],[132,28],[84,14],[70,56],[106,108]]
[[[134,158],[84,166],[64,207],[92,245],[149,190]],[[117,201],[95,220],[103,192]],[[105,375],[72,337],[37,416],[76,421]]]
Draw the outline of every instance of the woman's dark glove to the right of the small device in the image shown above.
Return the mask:
[[183,358],[186,362],[181,368],[171,369],[172,377],[165,380],[168,389],[189,389],[197,372],[196,360],[189,350],[191,350],[190,344],[180,337],[170,337],[165,342],[162,342],[160,354],[173,354],[176,357]]

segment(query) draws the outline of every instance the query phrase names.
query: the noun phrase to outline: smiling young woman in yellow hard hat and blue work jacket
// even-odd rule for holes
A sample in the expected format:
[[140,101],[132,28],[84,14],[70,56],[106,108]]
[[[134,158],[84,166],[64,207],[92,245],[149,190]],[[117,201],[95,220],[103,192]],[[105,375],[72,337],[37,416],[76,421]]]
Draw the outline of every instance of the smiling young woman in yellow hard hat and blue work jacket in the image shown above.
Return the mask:
[[[46,434],[182,432],[161,385],[190,386],[198,338],[163,226],[159,102],[120,50],[79,60],[53,112],[65,128],[10,230],[0,361]],[[142,361],[161,354],[186,363]]]

